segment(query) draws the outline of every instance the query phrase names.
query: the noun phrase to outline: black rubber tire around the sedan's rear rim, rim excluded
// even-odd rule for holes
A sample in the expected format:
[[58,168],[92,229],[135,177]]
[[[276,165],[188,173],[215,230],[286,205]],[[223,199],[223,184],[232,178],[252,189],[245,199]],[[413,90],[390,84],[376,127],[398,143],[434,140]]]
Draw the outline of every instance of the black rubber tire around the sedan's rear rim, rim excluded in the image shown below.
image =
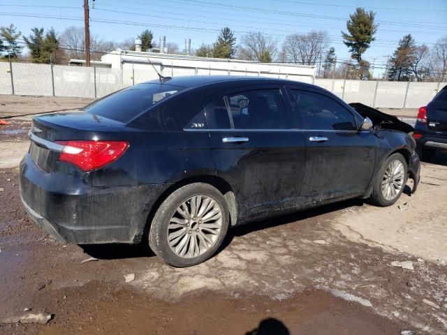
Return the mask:
[[[219,205],[222,218],[221,230],[214,245],[203,254],[198,255],[195,258],[183,258],[171,250],[168,244],[168,224],[177,208],[186,200],[197,195],[210,197]],[[191,267],[193,265],[198,265],[201,262],[205,262],[205,260],[214,255],[226,236],[228,225],[228,206],[223,195],[217,188],[205,183],[188,184],[171,193],[156,211],[154,219],[152,220],[152,225],[149,228],[149,246],[156,255],[169,265],[172,265],[173,267]]]

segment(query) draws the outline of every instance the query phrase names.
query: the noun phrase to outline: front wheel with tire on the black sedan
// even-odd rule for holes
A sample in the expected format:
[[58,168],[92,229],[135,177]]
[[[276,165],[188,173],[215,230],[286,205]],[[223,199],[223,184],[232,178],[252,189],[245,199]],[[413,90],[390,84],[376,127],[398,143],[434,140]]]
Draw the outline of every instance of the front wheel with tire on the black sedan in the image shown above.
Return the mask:
[[402,154],[388,157],[374,177],[371,201],[382,207],[394,204],[404,191],[408,179],[407,170]]

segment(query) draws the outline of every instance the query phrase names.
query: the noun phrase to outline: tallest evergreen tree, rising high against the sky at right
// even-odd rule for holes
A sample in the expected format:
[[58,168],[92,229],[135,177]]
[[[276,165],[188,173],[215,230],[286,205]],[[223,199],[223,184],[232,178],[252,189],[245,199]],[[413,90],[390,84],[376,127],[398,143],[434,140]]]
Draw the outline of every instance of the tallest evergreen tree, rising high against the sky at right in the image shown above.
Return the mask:
[[343,43],[349,47],[351,57],[358,62],[362,61],[362,54],[369,48],[369,45],[377,31],[377,25],[374,24],[376,13],[367,12],[364,8],[357,8],[356,13],[349,15],[346,22],[348,33],[342,31]]

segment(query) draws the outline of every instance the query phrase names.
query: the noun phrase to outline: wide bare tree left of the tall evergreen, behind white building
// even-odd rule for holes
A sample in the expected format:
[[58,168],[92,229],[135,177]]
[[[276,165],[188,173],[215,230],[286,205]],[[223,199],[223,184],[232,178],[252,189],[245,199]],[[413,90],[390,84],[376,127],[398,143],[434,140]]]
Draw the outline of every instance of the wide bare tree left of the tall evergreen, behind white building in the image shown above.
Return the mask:
[[295,64],[315,65],[321,52],[328,46],[328,33],[311,31],[307,34],[291,34],[284,40],[286,59]]

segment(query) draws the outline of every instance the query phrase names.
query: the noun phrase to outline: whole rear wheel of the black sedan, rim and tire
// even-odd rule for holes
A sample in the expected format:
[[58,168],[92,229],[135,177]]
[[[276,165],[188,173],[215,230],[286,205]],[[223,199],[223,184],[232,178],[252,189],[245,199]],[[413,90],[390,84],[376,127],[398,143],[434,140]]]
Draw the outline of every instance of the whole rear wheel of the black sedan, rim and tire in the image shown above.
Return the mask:
[[189,267],[210,258],[228,230],[228,207],[213,186],[195,183],[177,189],[156,211],[149,245],[175,267]]

